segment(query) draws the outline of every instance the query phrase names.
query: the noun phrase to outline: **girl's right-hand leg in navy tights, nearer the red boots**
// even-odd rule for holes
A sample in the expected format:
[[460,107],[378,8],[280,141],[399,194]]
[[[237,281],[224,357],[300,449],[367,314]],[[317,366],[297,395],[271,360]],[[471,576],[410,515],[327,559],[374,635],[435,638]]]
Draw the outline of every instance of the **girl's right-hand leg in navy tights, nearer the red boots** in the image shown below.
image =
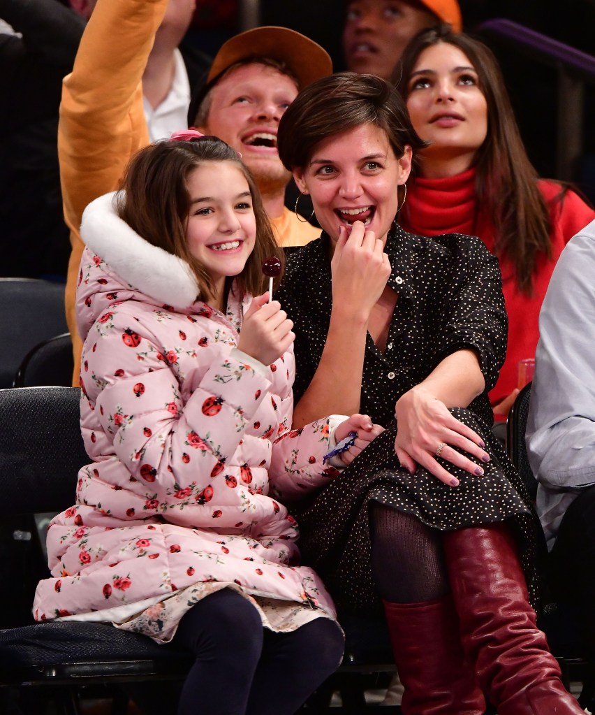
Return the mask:
[[246,715],[293,715],[336,671],[343,634],[328,618],[315,618],[297,631],[264,631],[264,647]]

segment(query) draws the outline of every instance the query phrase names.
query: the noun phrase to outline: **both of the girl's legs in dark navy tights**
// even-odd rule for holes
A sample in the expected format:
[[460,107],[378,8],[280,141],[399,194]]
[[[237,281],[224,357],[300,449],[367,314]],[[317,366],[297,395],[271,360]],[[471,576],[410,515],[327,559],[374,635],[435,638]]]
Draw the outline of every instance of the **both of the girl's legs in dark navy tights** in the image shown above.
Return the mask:
[[269,631],[256,608],[228,588],[196,603],[174,642],[196,656],[178,715],[292,715],[339,666],[344,645],[328,618],[290,633]]

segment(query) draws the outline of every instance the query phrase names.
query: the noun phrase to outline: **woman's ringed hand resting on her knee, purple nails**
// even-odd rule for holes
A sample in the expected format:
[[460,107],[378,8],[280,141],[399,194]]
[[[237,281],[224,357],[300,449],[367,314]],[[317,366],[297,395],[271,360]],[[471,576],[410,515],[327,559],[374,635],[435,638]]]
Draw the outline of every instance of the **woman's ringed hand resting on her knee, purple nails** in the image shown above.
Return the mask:
[[438,463],[439,453],[443,460],[469,474],[483,475],[481,467],[454,449],[464,450],[480,462],[489,462],[481,437],[453,417],[446,405],[428,390],[418,385],[402,395],[396,403],[395,417],[398,428],[394,449],[401,465],[411,474],[421,465],[441,482],[458,486],[459,480]]

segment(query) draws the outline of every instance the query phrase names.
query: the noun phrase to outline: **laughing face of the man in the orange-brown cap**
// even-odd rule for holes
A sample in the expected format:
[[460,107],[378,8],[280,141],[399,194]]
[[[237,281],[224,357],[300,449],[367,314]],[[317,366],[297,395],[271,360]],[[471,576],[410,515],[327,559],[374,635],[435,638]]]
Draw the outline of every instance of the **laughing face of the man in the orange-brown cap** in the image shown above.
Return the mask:
[[293,79],[257,63],[231,70],[211,90],[201,132],[214,134],[236,149],[261,192],[284,190],[289,180],[276,148],[277,131],[297,93]]

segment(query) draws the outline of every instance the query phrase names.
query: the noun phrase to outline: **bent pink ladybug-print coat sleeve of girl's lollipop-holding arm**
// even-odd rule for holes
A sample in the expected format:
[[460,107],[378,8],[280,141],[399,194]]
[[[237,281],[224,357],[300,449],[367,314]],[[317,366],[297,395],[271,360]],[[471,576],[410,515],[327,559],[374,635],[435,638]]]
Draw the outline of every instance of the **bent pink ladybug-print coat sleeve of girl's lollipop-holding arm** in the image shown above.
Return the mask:
[[236,452],[269,398],[270,381],[236,358],[233,347],[217,344],[196,351],[201,378],[183,399],[174,351],[162,352],[142,317],[108,315],[89,332],[81,370],[91,423],[101,425],[99,436],[91,435],[83,421],[89,453],[97,460],[114,453],[161,503],[175,502],[180,490],[198,493],[211,471]]

